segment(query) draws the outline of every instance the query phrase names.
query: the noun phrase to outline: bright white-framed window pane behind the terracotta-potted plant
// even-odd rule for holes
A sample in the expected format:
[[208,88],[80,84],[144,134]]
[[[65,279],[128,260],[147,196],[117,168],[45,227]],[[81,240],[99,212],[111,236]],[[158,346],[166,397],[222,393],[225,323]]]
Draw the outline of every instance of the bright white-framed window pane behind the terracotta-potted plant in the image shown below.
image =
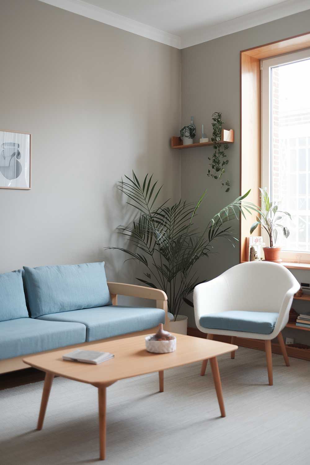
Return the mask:
[[290,236],[278,236],[282,259],[310,263],[310,50],[261,68],[262,186],[292,215],[283,217]]

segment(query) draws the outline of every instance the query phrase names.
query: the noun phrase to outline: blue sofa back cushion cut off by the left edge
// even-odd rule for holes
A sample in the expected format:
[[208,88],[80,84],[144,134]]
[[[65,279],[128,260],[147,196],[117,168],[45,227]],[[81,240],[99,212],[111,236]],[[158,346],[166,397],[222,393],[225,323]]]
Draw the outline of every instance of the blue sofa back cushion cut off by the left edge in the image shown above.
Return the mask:
[[22,270],[0,274],[0,321],[28,317]]

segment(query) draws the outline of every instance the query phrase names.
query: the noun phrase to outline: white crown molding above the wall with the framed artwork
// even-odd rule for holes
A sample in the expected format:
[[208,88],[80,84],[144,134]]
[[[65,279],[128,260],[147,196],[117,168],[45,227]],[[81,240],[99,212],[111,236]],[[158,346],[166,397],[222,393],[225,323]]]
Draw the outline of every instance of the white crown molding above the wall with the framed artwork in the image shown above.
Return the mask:
[[123,29],[124,31],[146,37],[147,39],[161,42],[171,47],[180,48],[181,38],[178,35],[173,35],[156,27],[147,26],[138,21],[131,20],[120,14],[112,13],[104,8],[90,5],[82,0],[39,0],[43,3],[53,5],[53,7],[62,8],[63,10],[76,13],[81,16],[86,16],[91,20],[96,20],[109,26]]

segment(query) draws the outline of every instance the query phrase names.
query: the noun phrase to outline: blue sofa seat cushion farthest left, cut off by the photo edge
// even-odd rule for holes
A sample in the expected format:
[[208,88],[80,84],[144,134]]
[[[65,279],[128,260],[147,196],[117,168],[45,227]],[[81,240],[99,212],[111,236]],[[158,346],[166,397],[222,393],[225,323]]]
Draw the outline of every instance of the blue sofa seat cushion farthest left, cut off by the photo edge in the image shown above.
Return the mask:
[[86,342],[86,327],[33,318],[0,322],[0,360]]

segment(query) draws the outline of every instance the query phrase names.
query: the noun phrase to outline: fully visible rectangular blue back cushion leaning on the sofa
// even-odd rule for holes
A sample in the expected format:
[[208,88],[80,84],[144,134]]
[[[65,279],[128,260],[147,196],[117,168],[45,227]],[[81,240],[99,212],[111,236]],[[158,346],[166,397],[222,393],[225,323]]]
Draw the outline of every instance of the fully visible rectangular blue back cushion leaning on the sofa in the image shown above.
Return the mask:
[[24,270],[32,318],[111,304],[105,262]]

